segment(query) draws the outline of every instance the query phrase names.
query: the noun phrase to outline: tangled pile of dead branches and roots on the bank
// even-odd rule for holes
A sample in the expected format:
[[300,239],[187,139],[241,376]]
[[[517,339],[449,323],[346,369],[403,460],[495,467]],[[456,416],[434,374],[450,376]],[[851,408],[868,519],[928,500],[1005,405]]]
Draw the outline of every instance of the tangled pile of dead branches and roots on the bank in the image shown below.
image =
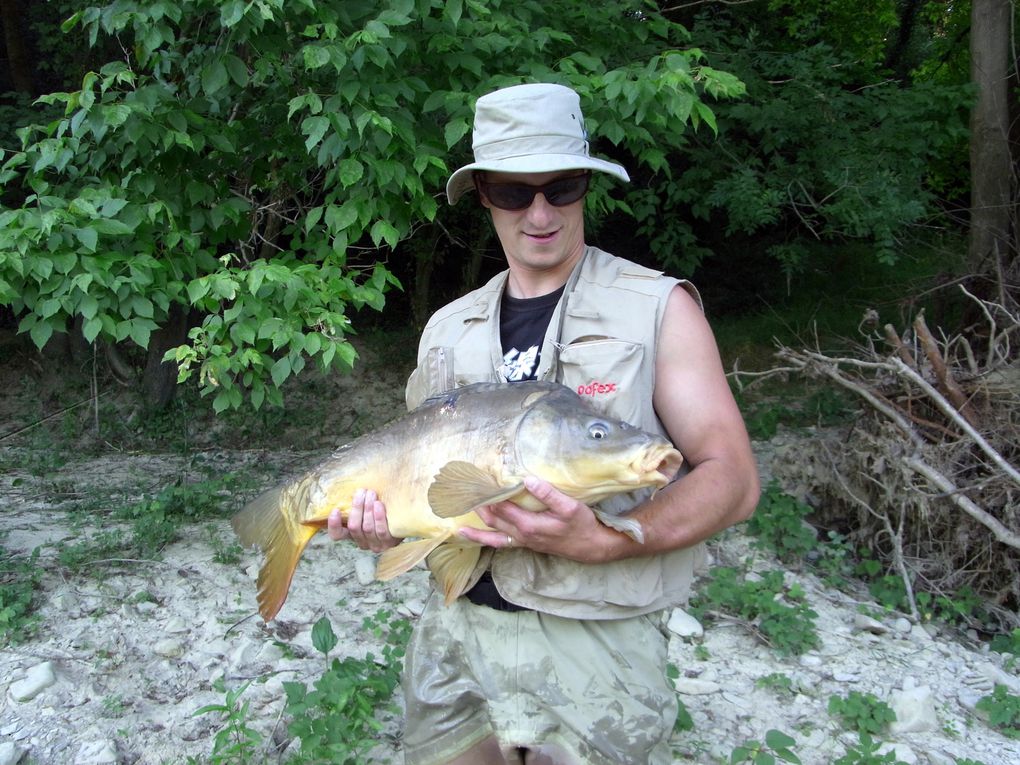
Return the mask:
[[873,324],[853,357],[778,356],[864,405],[843,444],[802,453],[819,522],[882,555],[915,618],[916,591],[970,588],[1000,625],[1018,626],[1020,314],[964,292],[980,307],[980,333],[932,332],[922,313],[902,334]]

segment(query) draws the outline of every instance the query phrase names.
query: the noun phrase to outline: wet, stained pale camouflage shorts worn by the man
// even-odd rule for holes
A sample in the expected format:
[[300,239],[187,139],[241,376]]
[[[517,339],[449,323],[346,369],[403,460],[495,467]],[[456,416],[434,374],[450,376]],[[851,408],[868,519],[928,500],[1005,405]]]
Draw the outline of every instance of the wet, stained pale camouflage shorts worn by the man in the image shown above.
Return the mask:
[[434,594],[404,668],[404,762],[446,763],[493,733],[564,765],[671,762],[660,616],[580,621]]

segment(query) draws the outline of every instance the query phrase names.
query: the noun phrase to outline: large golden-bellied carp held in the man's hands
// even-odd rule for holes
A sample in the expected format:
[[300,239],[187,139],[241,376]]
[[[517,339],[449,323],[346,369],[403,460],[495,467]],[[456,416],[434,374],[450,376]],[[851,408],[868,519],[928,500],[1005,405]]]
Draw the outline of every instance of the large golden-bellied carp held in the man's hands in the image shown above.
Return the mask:
[[[264,553],[258,605],[268,621],[330,511],[340,508],[346,521],[355,490],[372,489],[386,503],[390,533],[409,540],[379,556],[376,578],[404,573],[430,555],[450,603],[466,589],[480,553],[458,529],[488,528],[474,510],[503,500],[546,509],[524,489],[526,475],[594,504],[663,487],[681,462],[665,439],[599,414],[561,385],[479,382],[428,399],[341,447],[302,477],[255,499],[232,523],[245,545]],[[644,542],[638,521],[597,512]]]

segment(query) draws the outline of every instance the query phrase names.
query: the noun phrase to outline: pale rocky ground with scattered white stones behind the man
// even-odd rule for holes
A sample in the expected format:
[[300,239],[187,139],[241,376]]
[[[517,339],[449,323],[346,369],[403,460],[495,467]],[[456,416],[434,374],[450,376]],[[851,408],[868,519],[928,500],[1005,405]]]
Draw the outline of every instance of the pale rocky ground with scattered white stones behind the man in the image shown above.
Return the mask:
[[[399,388],[358,390],[396,411]],[[757,445],[763,471],[777,449],[804,448],[797,443]],[[200,454],[206,475],[257,475],[264,482],[314,464],[330,446],[319,440],[304,450],[206,447]],[[362,628],[363,618],[380,608],[412,621],[420,613],[427,592],[422,570],[375,582],[370,555],[320,536],[279,617],[263,623],[253,615],[255,555],[219,562],[231,544],[225,512],[187,527],[159,560],[99,560],[68,574],[55,563],[56,543],[100,532],[99,511],[95,522],[82,516],[83,496],[151,492],[194,471],[196,454],[91,450],[40,469],[38,447],[21,437],[0,441],[0,544],[18,554],[39,548],[44,571],[36,635],[0,652],[0,765],[202,762],[222,720],[195,713],[223,701],[217,680],[227,688],[254,680],[244,699],[267,743],[261,761],[286,761],[269,751],[273,743],[293,747],[283,683],[310,685],[323,666],[312,625],[323,615],[330,619],[341,638],[338,655],[378,655],[381,646]],[[720,564],[758,572],[780,567],[741,529],[715,541],[711,552]],[[865,617],[859,606],[866,598],[831,590],[809,573],[787,571],[785,580],[800,584],[818,613],[820,648],[799,658],[777,655],[736,620],[699,624],[682,611],[672,615],[676,687],[694,722],[674,737],[677,762],[729,762],[735,747],[777,729],[796,740],[802,762],[834,763],[858,737],[828,713],[828,700],[853,691],[873,694],[897,712],[882,740],[902,762],[1020,762],[1020,742],[991,730],[974,709],[996,683],[1020,694],[1004,657],[967,635],[882,616],[874,604]],[[761,682],[769,676],[772,682]],[[399,733],[399,715],[388,718],[373,761],[400,762]],[[891,761],[872,757],[844,762]]]

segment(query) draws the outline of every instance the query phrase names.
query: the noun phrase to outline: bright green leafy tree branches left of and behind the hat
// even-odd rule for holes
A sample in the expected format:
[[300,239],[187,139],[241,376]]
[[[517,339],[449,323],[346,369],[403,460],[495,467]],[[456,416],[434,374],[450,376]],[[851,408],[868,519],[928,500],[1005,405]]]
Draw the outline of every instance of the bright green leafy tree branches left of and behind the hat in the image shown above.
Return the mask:
[[145,349],[187,312],[167,358],[217,411],[278,404],[308,362],[350,368],[391,253],[445,230],[473,95],[569,84],[593,135],[660,170],[683,125],[714,130],[703,97],[742,88],[650,2],[114,0],[65,29],[123,55],[44,97],[62,117],[0,169],[23,197],[0,209],[0,305],[40,348],[74,325]]

